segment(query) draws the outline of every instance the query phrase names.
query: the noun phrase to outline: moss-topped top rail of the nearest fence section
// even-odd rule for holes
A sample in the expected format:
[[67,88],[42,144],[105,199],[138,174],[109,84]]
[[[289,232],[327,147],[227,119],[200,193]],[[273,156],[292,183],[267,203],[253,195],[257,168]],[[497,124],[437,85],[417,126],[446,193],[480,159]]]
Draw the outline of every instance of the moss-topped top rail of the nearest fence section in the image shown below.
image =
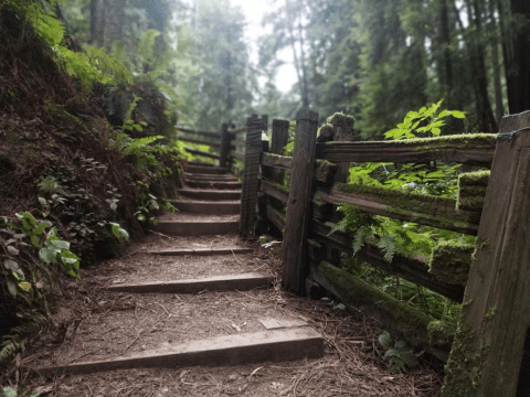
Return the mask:
[[469,165],[490,167],[497,136],[473,133],[442,138],[375,142],[317,143],[317,159],[332,162],[425,162],[454,161]]

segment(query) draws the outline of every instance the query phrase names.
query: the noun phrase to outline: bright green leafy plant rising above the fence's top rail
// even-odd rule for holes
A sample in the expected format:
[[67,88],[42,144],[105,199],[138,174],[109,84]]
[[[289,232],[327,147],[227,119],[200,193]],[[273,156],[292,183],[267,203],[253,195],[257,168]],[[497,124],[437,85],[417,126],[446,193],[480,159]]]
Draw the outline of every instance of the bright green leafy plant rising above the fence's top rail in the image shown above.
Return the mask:
[[422,107],[417,111],[409,111],[403,120],[396,128],[391,129],[384,133],[385,138],[392,138],[394,140],[416,138],[416,133],[432,133],[439,136],[442,133],[441,128],[445,126],[446,117],[455,117],[463,119],[466,117],[464,111],[458,110],[442,110],[436,114],[444,100],[439,100],[433,104],[431,107]]

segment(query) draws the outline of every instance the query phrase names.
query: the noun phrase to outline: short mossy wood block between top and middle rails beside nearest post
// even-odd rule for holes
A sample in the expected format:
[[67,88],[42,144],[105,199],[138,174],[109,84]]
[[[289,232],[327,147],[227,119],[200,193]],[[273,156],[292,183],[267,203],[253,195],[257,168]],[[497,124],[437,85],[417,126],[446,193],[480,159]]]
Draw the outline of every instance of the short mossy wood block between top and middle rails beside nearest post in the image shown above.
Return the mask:
[[489,171],[476,171],[458,176],[458,210],[483,211],[489,175]]

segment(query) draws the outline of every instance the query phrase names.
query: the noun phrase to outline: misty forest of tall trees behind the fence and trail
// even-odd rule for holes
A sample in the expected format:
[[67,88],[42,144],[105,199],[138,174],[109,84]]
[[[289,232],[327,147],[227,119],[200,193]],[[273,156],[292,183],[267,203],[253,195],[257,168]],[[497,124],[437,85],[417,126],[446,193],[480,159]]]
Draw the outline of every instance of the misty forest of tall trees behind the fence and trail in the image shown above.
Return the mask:
[[[321,118],[353,115],[362,137],[374,139],[409,110],[444,99],[467,114],[445,133],[495,132],[502,115],[530,109],[527,0],[272,4],[262,26],[248,26],[273,32],[258,40],[257,64],[245,17],[227,0],[71,0],[56,11],[78,44],[103,46],[138,73],[163,66],[159,79],[176,89],[179,124],[200,129],[241,125],[252,112],[293,119],[309,106]],[[150,29],[163,34],[152,61],[139,64],[138,45]],[[277,87],[285,49],[298,81]],[[157,66],[162,53],[168,62]]]

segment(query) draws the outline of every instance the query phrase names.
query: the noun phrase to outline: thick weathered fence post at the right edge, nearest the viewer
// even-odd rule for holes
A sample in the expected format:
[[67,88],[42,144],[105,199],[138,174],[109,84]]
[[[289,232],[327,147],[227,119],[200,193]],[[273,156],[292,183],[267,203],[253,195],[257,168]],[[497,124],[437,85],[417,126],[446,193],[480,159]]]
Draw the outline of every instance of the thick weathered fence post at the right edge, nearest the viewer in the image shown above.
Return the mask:
[[516,396],[528,382],[519,378],[530,325],[528,127],[530,111],[500,126],[444,396]]

